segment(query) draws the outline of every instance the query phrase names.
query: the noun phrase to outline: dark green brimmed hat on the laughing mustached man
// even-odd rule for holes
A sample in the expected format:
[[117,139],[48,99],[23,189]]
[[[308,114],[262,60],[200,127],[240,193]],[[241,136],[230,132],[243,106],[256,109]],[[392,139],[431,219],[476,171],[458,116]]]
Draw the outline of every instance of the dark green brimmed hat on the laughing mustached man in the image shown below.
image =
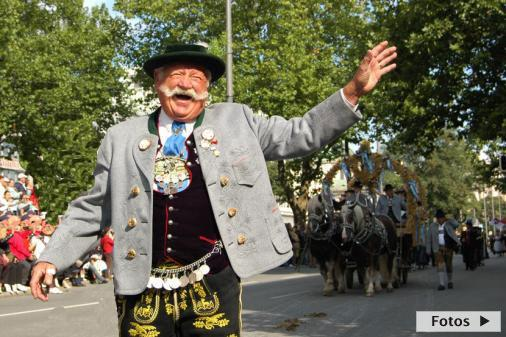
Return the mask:
[[153,56],[144,63],[142,68],[146,74],[154,78],[156,68],[177,62],[188,62],[204,67],[211,72],[211,82],[217,81],[225,72],[225,62],[209,53],[206,47],[198,44],[168,45],[163,54]]

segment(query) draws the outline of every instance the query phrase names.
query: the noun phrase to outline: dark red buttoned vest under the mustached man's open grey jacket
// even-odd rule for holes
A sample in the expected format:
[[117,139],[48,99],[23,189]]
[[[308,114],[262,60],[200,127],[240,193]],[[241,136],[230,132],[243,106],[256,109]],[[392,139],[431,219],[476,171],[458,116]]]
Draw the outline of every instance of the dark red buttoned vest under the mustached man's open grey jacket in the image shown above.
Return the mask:
[[[220,240],[193,133],[186,141],[190,186],[179,193],[153,192],[153,266],[167,261],[187,265],[209,253]],[[228,266],[225,249],[207,262],[212,273]]]

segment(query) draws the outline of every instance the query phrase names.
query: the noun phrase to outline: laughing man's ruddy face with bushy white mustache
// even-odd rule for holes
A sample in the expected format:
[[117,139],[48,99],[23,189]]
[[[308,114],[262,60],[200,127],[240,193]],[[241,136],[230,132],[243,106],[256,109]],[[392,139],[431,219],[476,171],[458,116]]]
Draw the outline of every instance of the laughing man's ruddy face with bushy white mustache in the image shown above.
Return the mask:
[[[209,80],[205,69],[191,64],[173,64],[155,72],[155,89],[167,115],[177,121],[194,121],[202,112]],[[171,92],[180,89],[182,92]],[[185,92],[188,91],[188,92]],[[192,98],[189,92],[196,95]]]

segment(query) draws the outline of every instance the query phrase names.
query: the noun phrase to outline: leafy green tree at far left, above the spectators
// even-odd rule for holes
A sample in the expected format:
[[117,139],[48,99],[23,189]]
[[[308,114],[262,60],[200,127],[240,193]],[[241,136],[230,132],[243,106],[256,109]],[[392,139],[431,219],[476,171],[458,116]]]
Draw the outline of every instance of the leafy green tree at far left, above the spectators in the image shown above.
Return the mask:
[[82,1],[0,2],[0,133],[55,220],[92,183],[101,130],[130,113],[126,24]]

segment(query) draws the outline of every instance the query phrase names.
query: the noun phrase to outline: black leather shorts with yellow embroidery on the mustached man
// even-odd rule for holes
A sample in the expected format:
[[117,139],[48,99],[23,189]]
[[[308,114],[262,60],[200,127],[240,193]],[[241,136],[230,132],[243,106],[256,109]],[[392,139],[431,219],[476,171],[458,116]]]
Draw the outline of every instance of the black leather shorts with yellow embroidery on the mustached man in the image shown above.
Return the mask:
[[120,337],[238,337],[241,285],[231,267],[176,290],[117,295]]

